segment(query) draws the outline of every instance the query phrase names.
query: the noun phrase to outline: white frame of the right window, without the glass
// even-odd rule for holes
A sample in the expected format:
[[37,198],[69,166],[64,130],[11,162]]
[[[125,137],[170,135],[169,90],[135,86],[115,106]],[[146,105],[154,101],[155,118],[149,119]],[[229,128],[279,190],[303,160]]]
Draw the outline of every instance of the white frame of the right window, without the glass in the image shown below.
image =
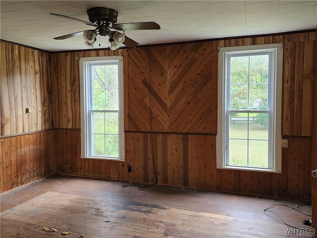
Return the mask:
[[[271,85],[271,100],[273,108],[271,111],[273,120],[271,132],[273,133],[271,140],[271,164],[268,169],[229,166],[228,158],[226,158],[226,137],[228,125],[226,125],[226,114],[228,106],[228,94],[226,90],[226,73],[227,57],[231,54],[244,54],[254,52],[271,51],[273,56],[273,83]],[[262,171],[271,173],[281,173],[282,171],[282,134],[281,134],[281,118],[282,118],[282,74],[283,74],[283,44],[266,44],[239,47],[222,47],[218,51],[218,115],[217,115],[217,136],[216,136],[216,162],[217,169],[233,169],[247,171]],[[275,92],[275,93],[274,93]],[[275,122],[274,122],[275,121]],[[275,134],[274,134],[275,133]],[[270,134],[270,132],[269,132]],[[227,148],[228,149],[228,148]]]

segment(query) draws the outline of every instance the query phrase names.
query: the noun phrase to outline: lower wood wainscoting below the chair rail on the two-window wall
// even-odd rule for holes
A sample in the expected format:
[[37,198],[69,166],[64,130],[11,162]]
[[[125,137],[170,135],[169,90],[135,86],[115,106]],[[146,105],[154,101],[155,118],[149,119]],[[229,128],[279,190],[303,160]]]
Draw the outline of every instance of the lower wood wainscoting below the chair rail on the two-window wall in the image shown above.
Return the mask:
[[[311,138],[289,137],[282,174],[217,170],[215,136],[125,133],[124,162],[80,159],[80,130],[56,130],[56,172],[103,179],[289,197],[311,196]],[[155,160],[153,163],[153,159]],[[154,164],[156,167],[154,168]],[[127,173],[127,166],[132,173]],[[283,191],[284,190],[284,191]]]

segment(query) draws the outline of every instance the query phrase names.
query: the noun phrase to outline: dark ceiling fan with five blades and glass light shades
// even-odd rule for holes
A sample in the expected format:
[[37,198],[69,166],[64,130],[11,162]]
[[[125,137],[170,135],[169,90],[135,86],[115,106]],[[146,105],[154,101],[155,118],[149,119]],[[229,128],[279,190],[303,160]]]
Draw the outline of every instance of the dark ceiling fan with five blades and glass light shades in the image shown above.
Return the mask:
[[[117,23],[118,11],[107,7],[93,7],[87,10],[89,21],[83,21],[70,16],[64,16],[60,14],[50,13],[54,16],[64,17],[70,20],[75,20],[84,23],[88,26],[94,26],[94,30],[84,30],[80,32],[71,33],[64,36],[55,37],[55,40],[63,40],[74,36],[83,35],[84,44],[90,48],[94,48],[94,43],[97,40],[97,35],[108,36],[111,44],[110,50],[116,50],[120,46],[125,45],[130,48],[134,48],[139,43],[130,39],[124,34],[126,30],[159,30],[158,23],[150,22],[134,22],[134,23]],[[112,31],[110,29],[113,29]],[[117,31],[115,31],[117,30]],[[123,31],[120,33],[118,31]]]

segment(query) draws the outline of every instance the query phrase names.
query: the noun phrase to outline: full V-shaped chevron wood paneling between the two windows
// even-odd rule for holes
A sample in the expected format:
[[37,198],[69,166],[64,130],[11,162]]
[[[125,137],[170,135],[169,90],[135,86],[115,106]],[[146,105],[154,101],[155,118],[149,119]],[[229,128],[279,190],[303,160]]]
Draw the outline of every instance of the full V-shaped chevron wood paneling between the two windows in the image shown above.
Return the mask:
[[211,51],[208,42],[129,50],[129,130],[215,133]]

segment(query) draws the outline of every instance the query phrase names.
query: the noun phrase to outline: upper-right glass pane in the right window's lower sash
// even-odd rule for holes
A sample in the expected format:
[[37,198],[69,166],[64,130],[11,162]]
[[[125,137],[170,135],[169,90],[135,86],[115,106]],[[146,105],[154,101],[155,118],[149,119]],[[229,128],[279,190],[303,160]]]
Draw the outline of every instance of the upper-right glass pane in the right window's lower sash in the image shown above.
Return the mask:
[[249,139],[268,140],[268,113],[250,115]]

